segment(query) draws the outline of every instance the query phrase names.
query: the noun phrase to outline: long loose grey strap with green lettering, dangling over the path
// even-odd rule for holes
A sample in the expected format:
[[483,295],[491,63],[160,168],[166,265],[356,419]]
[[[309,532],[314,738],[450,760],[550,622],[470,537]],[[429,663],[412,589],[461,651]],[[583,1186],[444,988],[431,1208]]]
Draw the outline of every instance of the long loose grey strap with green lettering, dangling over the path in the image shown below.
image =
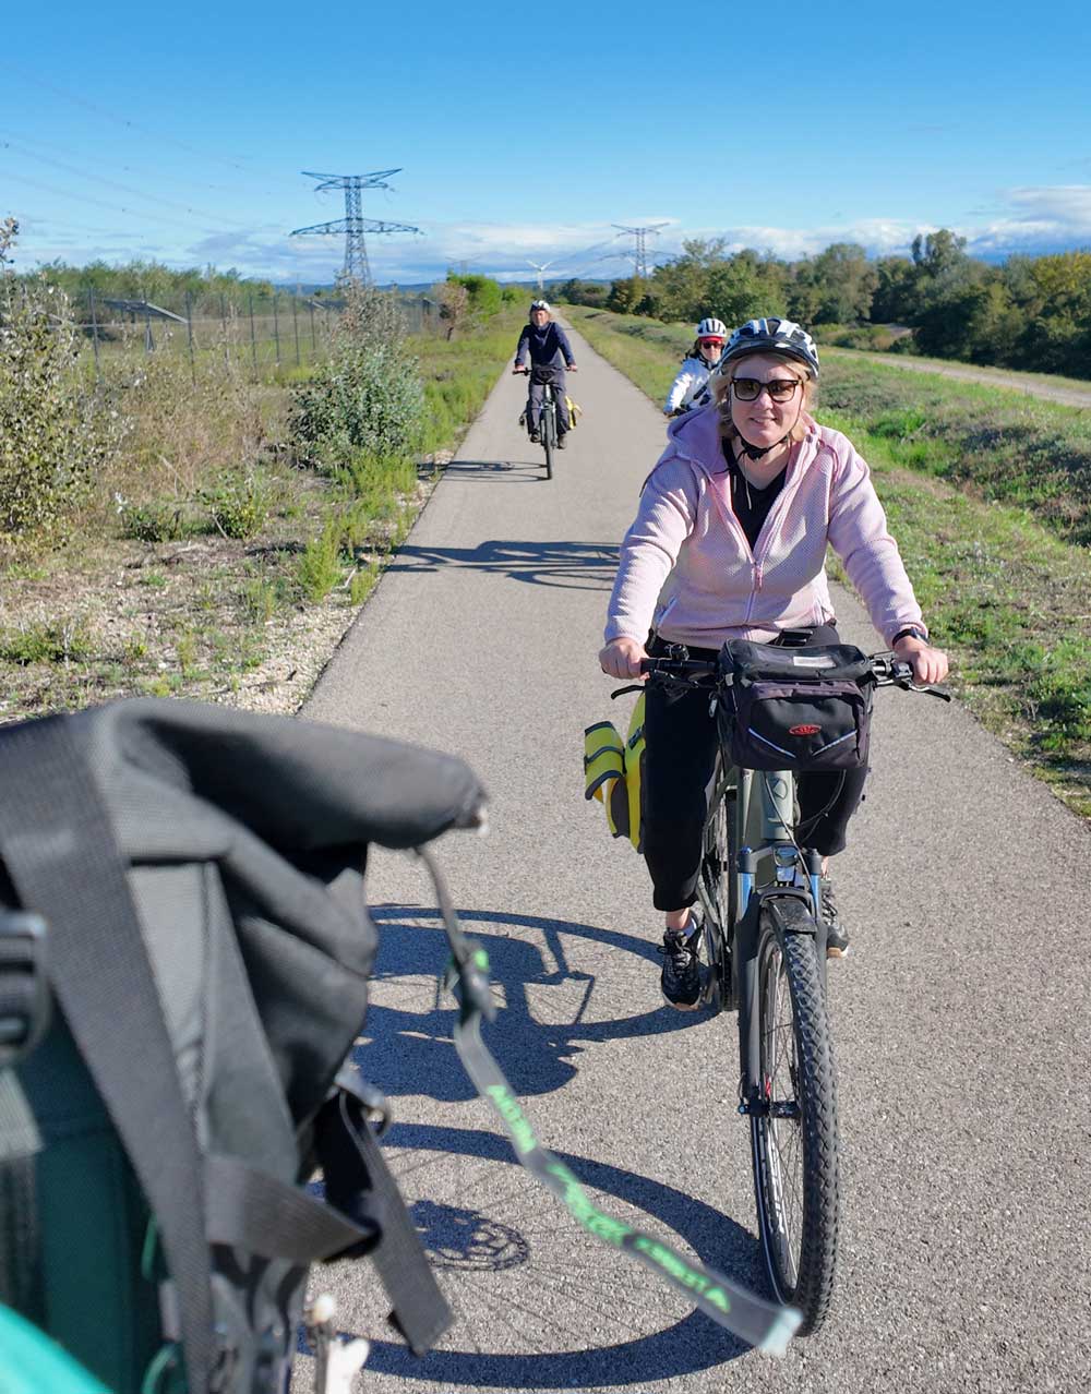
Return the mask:
[[795,1308],[765,1302],[714,1269],[688,1259],[661,1239],[605,1214],[594,1204],[572,1171],[537,1140],[515,1092],[481,1040],[481,1018],[491,1020],[495,1016],[495,1004],[488,990],[488,958],[484,949],[476,947],[462,933],[435,860],[424,848],[417,848],[417,855],[424,860],[435,884],[451,944],[452,966],[446,986],[455,990],[459,1002],[455,1047],[477,1093],[492,1107],[504,1125],[519,1161],[562,1202],[589,1234],[657,1273],[693,1301],[706,1316],[732,1331],[739,1340],[773,1355],[784,1355],[788,1341],[802,1322]]

